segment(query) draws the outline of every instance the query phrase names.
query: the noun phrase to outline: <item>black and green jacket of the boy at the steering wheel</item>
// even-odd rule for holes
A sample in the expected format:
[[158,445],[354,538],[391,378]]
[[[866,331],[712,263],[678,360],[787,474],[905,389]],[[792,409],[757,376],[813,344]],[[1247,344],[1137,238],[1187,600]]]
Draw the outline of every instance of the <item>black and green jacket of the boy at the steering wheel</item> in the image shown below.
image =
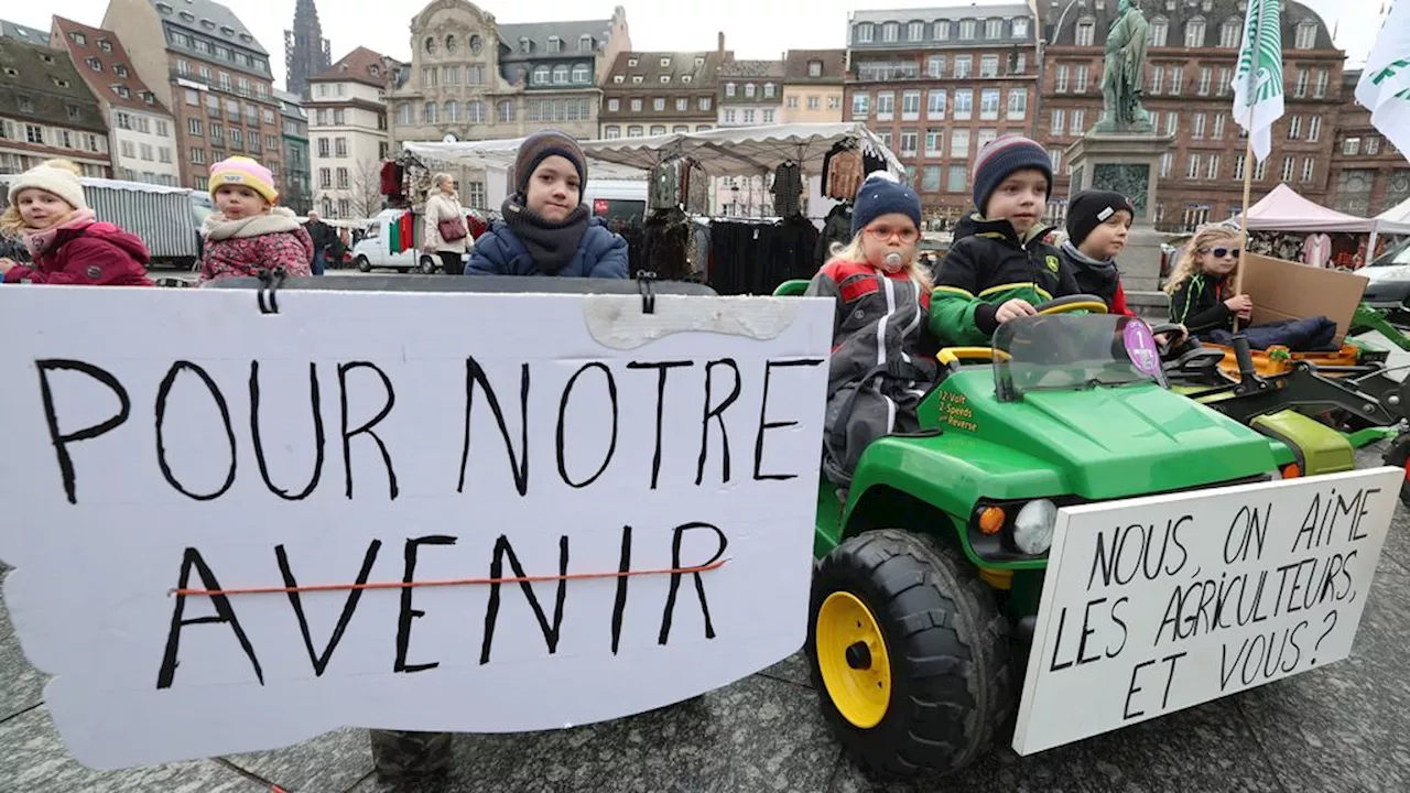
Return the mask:
[[963,217],[935,274],[931,330],[948,344],[988,344],[1004,302],[1018,298],[1038,305],[1079,293],[1058,248],[1042,241],[1049,231],[1035,226],[1019,238],[1008,220]]

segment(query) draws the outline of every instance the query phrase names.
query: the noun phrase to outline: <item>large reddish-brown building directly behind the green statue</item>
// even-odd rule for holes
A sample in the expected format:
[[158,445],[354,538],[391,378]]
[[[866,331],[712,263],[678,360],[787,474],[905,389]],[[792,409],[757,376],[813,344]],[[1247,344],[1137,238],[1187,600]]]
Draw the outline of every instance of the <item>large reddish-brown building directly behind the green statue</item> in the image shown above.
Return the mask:
[[[1049,220],[1066,214],[1065,151],[1101,117],[1103,45],[1117,3],[1041,3],[1049,45],[1043,58],[1038,140],[1056,165]],[[1231,117],[1232,79],[1242,41],[1242,0],[1145,0],[1149,24],[1145,107],[1156,130],[1175,135],[1160,162],[1152,210],[1156,227],[1193,229],[1237,214],[1244,202],[1248,138]],[[1286,114],[1273,126],[1273,151],[1253,168],[1253,195],[1279,182],[1331,206],[1328,175],[1338,111],[1345,104],[1345,54],[1325,23],[1301,3],[1285,3],[1283,90]],[[1058,28],[1058,23],[1062,27]]]

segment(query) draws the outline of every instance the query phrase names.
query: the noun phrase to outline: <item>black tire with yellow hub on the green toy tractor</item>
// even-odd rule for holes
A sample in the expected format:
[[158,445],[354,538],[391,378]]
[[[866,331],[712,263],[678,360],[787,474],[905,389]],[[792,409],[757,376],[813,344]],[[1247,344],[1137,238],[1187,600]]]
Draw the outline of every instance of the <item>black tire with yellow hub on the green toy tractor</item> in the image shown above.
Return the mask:
[[867,769],[943,775],[1008,721],[1008,622],[959,552],[881,529],[816,567],[808,659],[822,713]]

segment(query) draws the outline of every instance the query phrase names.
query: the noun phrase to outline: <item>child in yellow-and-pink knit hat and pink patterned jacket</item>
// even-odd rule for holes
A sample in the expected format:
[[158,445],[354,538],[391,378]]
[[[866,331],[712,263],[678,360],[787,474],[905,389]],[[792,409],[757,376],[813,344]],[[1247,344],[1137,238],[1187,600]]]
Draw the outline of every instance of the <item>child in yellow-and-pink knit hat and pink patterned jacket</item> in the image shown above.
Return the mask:
[[313,265],[313,238],[292,210],[279,203],[274,174],[248,157],[210,167],[216,213],[206,219],[200,284],[258,275],[282,267],[289,278],[306,277]]

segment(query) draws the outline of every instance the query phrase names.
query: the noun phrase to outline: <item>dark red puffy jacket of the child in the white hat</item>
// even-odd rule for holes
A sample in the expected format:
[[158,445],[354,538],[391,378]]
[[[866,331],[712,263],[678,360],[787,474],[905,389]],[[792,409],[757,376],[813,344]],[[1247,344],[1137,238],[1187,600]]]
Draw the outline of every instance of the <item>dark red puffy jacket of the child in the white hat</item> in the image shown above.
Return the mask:
[[6,284],[58,284],[83,286],[152,286],[151,261],[137,234],[113,223],[61,229],[49,250],[34,264],[17,265],[0,277]]

